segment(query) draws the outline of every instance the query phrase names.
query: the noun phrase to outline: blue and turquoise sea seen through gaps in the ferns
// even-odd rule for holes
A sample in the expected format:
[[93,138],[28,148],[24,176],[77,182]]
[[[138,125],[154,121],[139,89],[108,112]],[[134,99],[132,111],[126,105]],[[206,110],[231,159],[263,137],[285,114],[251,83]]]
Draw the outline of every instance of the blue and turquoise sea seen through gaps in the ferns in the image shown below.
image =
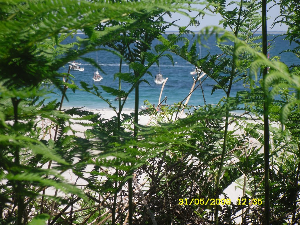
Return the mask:
[[[279,34],[272,34],[269,35],[268,39],[269,42],[272,43],[274,46],[270,50],[270,57],[274,55],[279,55],[281,57],[281,61],[286,63],[288,66],[291,64],[299,64],[299,59],[296,58],[294,55],[292,55],[289,52],[283,52],[285,49],[292,49],[295,47],[295,45],[289,46],[289,41],[283,40],[283,36],[275,38],[271,41],[271,39],[274,38],[274,36],[277,36]],[[84,38],[83,34],[77,34],[76,36],[80,38]],[[70,43],[72,41],[76,41],[76,36],[74,38],[69,38],[65,40],[65,43]],[[188,39],[190,39],[190,44],[192,44],[192,36],[187,36]],[[199,56],[204,57],[208,51],[213,54],[220,54],[220,49],[216,46],[215,43],[215,37],[209,38],[207,41],[203,41],[204,44],[207,47],[201,46],[198,44],[198,53]],[[154,45],[158,44],[157,41],[154,41]],[[153,45],[153,46],[154,46]],[[179,46],[182,46],[183,43],[178,43]],[[71,74],[75,77],[74,82],[79,85],[80,81],[86,82],[89,86],[92,87],[92,85],[96,85],[97,87],[101,88],[101,85],[104,86],[110,86],[113,88],[118,88],[119,81],[114,80],[114,74],[119,72],[119,62],[120,58],[116,55],[114,55],[112,52],[105,51],[105,50],[99,50],[97,52],[98,55],[98,64],[101,66],[104,73],[100,72],[103,76],[103,79],[100,82],[94,82],[93,81],[93,73],[96,71],[96,68],[89,64],[88,62],[85,62],[81,59],[77,59],[76,62],[81,63],[81,67],[84,68],[83,72],[80,72],[78,70],[71,70]],[[97,60],[96,52],[91,52],[84,57],[93,58],[95,61]],[[193,65],[188,63],[187,61],[183,60],[177,55],[173,54],[174,58],[174,66],[170,62],[170,60],[166,57],[163,57],[160,59],[160,68],[155,64],[150,68],[150,72],[152,73],[153,77],[149,74],[146,74],[143,78],[148,80],[150,83],[144,83],[142,82],[140,84],[140,102],[139,105],[144,105],[143,101],[148,100],[151,104],[158,104],[158,99],[161,91],[161,86],[155,84],[154,77],[155,74],[157,74],[159,71],[163,74],[164,78],[168,77],[167,83],[164,87],[164,91],[162,94],[162,99],[167,96],[167,104],[174,104],[182,101],[189,93],[190,88],[193,84],[193,77],[190,75],[190,72],[195,69]],[[64,67],[59,69],[59,72],[67,72],[68,65],[65,65]],[[122,63],[122,72],[129,72],[128,65],[123,61]],[[212,79],[206,79],[203,82],[203,89],[205,94],[205,100],[206,104],[216,104],[223,96],[225,96],[225,93],[222,90],[217,90],[211,95],[211,86],[214,85],[215,82]],[[125,91],[129,90],[129,85],[123,83],[122,89]],[[239,90],[242,90],[243,86],[241,83],[234,84],[232,86],[231,96],[234,96],[235,93]],[[58,95],[61,95],[58,93]],[[60,100],[60,96],[58,95],[52,95],[50,96],[51,99],[57,98]],[[104,98],[109,99],[113,106],[118,107],[118,101],[114,101],[115,96],[109,95],[106,92],[102,91],[102,95]],[[95,95],[92,95],[90,93],[87,93],[85,91],[75,91],[73,93],[72,90],[67,90],[67,97],[69,101],[64,101],[63,107],[86,107],[86,109],[108,109],[109,106],[107,103],[105,103],[103,100],[98,98]],[[201,88],[198,88],[196,91],[193,92],[190,101],[188,105],[204,105],[203,97],[202,97],[202,91]],[[133,109],[134,108],[134,91],[129,95],[126,103],[125,103],[125,109]]]

